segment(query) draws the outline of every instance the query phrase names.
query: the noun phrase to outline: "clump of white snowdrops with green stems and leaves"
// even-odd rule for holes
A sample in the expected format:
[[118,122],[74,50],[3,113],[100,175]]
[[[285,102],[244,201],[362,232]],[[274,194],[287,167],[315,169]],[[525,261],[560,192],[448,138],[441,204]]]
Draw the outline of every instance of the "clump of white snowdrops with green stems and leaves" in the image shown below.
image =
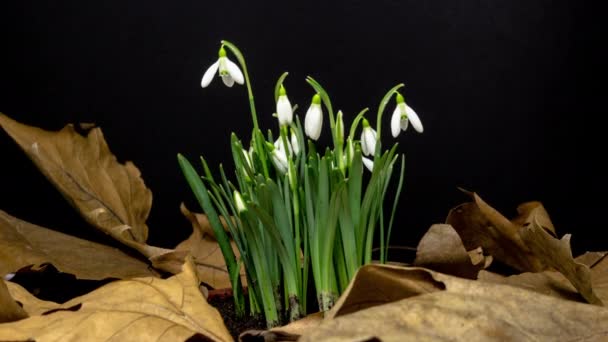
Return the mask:
[[[287,96],[284,73],[274,91],[278,125],[264,134],[258,125],[245,59],[228,41],[221,42],[219,58],[204,73],[201,86],[209,86],[216,75],[228,87],[245,84],[249,96],[251,138],[248,144],[235,133],[230,138],[234,180],[221,165],[220,177],[214,178],[204,158],[200,175],[182,155],[178,161],[219,242],[237,313],[244,314],[246,308],[241,265],[246,270],[250,314],[263,313],[268,327],[280,324],[283,312],[291,321],[307,313],[311,275],[318,307],[327,311],[357,269],[371,262],[375,243],[380,262],[386,262],[404,172],[404,156],[397,153],[397,143],[384,149],[380,141],[386,106],[395,98],[390,120],[395,138],[409,124],[422,133],[422,123],[405,103],[399,92],[403,84],[399,84],[380,101],[376,129],[366,118],[365,108],[347,130],[345,114],[334,112],[327,91],[307,77],[312,100],[302,125]],[[326,121],[332,145],[320,149],[316,141]],[[393,177],[395,169],[399,172]],[[387,203],[391,180],[397,188]],[[384,208],[391,202],[387,220]],[[224,220],[228,233],[220,217],[232,217]],[[238,247],[238,260],[230,238]]]

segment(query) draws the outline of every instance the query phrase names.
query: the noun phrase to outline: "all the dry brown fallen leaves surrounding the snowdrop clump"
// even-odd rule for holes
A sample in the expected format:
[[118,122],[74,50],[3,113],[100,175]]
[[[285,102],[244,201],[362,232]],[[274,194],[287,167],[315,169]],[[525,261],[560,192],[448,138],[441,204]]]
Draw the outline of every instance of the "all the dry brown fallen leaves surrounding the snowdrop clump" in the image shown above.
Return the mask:
[[[3,114],[0,127],[81,214],[83,229],[125,247],[36,226],[0,208],[3,277],[52,265],[77,279],[111,280],[63,304],[0,280],[0,341],[233,339],[199,287],[230,286],[204,215],[182,206],[191,236],[174,249],[150,246],[152,192],[135,165],[116,160],[99,128],[86,136],[72,125],[49,132]],[[423,236],[411,266],[366,265],[324,317],[312,314],[239,338],[608,340],[608,252],[573,257],[570,235],[558,238],[539,202],[520,205],[510,220],[478,194],[466,194],[469,202]],[[511,275],[492,271],[499,264]]]

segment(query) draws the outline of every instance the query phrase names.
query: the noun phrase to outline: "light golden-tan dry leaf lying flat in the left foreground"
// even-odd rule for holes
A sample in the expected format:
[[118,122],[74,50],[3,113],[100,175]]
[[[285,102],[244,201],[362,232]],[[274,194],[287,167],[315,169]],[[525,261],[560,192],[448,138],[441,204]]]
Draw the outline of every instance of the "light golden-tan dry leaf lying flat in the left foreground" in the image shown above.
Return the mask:
[[187,260],[183,272],[169,279],[115,281],[50,312],[2,324],[0,340],[232,341]]

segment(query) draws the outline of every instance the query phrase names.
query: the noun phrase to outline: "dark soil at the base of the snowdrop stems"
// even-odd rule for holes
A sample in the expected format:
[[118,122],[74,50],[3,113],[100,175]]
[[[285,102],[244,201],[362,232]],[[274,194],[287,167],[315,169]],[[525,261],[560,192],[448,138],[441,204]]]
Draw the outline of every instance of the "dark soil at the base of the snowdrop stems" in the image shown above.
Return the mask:
[[[264,319],[263,315],[252,317],[248,313],[249,310],[245,310],[245,316],[236,316],[234,299],[232,298],[231,293],[227,293],[225,295],[210,294],[207,302],[218,309],[220,315],[222,315],[222,318],[224,319],[224,324],[226,324],[228,331],[235,341],[238,340],[239,335],[243,331],[251,329],[266,330],[266,320]],[[247,297],[245,297],[245,302],[248,302]]]

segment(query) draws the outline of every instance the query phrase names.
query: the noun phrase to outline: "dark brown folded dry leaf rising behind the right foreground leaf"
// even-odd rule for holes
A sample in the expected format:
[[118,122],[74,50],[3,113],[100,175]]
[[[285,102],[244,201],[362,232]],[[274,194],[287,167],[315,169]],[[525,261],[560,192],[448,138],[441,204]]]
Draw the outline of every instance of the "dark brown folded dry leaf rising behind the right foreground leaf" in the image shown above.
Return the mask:
[[446,223],[458,232],[467,250],[482,247],[496,260],[522,272],[538,272],[546,268],[519,236],[520,228],[529,222],[531,217],[538,217],[545,222],[547,229],[553,229],[542,204],[528,202],[520,205],[519,215],[509,221],[476,193],[469,194],[474,201],[450,210],[446,219]]

